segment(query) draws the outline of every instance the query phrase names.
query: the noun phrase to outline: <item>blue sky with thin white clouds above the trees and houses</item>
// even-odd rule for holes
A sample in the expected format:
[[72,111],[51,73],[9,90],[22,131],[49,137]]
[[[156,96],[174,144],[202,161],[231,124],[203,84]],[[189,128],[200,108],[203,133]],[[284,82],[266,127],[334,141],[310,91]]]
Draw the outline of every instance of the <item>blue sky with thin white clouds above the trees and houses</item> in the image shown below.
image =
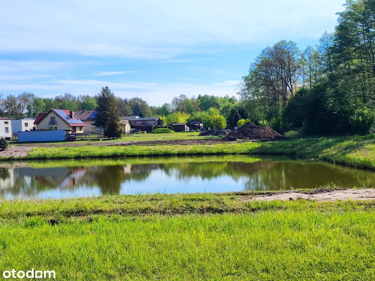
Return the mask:
[[234,95],[249,64],[285,39],[333,31],[343,0],[0,1],[0,92],[94,95],[150,105]]

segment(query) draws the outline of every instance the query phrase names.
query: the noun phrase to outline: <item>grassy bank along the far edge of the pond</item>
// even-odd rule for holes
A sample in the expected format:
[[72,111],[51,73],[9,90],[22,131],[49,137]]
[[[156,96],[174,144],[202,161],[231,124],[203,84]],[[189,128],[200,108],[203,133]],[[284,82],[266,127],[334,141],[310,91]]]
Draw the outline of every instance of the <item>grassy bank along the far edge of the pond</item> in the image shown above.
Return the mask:
[[315,158],[375,169],[374,139],[374,135],[369,135],[349,138],[304,138],[277,142],[223,142],[210,145],[43,147],[31,149],[28,156],[23,159],[270,154]]

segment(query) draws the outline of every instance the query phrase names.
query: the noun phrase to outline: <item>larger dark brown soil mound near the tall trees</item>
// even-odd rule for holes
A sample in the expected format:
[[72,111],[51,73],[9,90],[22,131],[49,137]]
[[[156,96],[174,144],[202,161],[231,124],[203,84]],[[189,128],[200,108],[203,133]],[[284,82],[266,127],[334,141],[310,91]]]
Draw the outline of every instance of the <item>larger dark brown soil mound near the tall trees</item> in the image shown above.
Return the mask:
[[236,141],[236,139],[246,139],[251,141],[276,141],[284,136],[267,126],[257,126],[252,122],[246,123],[237,130],[229,133],[222,140]]

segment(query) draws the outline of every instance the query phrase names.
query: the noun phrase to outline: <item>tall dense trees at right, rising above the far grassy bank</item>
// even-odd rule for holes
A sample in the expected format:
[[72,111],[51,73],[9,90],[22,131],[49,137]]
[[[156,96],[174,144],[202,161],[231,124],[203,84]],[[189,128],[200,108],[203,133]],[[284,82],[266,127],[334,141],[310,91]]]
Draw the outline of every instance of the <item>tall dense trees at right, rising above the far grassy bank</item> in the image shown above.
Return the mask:
[[374,0],[350,0],[316,47],[282,40],[263,49],[238,85],[245,112],[279,132],[374,132],[374,18]]

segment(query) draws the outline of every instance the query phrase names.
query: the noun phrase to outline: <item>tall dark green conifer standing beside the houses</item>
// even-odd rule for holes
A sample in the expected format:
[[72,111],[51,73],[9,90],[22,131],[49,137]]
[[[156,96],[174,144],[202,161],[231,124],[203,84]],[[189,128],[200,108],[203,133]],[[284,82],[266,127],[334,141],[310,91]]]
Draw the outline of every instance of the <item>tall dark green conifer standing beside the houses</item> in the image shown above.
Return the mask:
[[98,104],[96,108],[98,114],[94,122],[95,127],[102,128],[104,135],[108,138],[120,138],[122,130],[116,105],[116,97],[108,86],[102,88],[96,102]]

